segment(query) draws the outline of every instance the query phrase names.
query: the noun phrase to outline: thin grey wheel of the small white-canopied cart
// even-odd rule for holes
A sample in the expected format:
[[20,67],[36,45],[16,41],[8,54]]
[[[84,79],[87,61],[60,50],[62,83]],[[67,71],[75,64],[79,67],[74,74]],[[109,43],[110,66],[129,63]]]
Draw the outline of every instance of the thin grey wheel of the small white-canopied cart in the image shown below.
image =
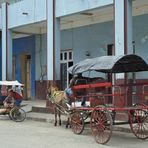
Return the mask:
[[12,108],[9,116],[15,122],[22,122],[26,119],[26,112],[21,108]]

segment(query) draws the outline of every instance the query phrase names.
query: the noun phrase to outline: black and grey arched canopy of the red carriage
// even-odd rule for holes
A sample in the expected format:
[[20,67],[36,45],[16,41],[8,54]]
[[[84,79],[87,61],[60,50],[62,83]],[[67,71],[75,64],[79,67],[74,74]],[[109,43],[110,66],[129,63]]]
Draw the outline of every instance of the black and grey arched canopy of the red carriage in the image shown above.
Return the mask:
[[101,56],[85,59],[68,68],[72,75],[86,71],[103,73],[126,73],[148,71],[148,64],[138,55]]

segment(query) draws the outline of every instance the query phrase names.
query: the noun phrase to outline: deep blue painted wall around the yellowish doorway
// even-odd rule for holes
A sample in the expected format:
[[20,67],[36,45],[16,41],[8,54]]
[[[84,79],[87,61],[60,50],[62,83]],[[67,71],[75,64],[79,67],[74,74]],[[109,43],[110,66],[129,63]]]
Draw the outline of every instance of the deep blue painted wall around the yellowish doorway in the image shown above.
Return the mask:
[[16,58],[15,79],[21,81],[20,56],[31,55],[31,94],[35,98],[35,36],[29,36],[13,40],[13,55]]

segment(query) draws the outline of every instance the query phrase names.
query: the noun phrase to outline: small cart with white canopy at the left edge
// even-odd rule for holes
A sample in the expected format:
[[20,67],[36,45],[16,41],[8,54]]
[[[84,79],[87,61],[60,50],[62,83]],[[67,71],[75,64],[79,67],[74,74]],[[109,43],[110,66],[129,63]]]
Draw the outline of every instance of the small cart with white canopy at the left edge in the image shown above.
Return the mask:
[[[26,119],[26,112],[21,108],[25,105],[15,106],[13,98],[8,98],[8,103],[5,105],[5,100],[8,96],[8,91],[22,87],[23,84],[18,81],[0,81],[1,96],[0,96],[0,115],[9,115],[9,118],[15,122],[22,122]],[[19,92],[15,92],[18,94]],[[19,95],[19,94],[18,94]]]

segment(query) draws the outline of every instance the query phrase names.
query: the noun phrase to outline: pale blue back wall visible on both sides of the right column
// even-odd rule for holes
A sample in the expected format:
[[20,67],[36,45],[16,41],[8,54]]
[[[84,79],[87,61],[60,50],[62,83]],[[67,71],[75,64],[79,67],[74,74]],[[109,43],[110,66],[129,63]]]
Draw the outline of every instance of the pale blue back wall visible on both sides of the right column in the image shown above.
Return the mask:
[[[133,40],[136,54],[148,63],[148,15],[133,17]],[[107,54],[107,45],[114,42],[113,21],[62,30],[61,49],[73,49],[74,63],[86,58]],[[86,57],[89,51],[91,56]],[[133,49],[129,49],[132,53]],[[137,73],[137,78],[147,78],[147,72]]]

